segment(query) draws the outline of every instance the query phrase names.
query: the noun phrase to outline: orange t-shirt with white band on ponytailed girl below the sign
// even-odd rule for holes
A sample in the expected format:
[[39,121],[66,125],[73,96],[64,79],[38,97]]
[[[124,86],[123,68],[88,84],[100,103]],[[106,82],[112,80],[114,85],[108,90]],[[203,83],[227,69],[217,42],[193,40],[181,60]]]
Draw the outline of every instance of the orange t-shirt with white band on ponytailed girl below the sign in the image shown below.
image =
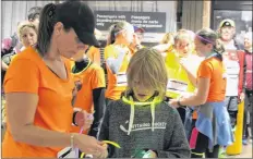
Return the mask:
[[113,74],[107,65],[108,86],[106,89],[106,98],[112,100],[120,99],[121,93],[124,91],[126,88],[125,73],[132,54],[129,47],[126,46],[117,46],[116,48],[115,45],[109,45],[105,48],[105,60],[107,60],[108,58],[117,59],[120,51],[125,51],[125,56],[123,58],[119,72],[117,74]]

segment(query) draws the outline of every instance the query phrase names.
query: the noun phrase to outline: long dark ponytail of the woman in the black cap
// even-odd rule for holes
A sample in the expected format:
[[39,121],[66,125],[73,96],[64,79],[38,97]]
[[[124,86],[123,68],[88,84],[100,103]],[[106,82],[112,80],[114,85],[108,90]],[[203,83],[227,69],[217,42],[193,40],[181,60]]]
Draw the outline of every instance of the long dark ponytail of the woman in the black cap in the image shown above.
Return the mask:
[[57,5],[53,3],[45,5],[39,16],[39,32],[36,49],[41,57],[48,52],[50,47],[53,26],[57,22],[56,8]]

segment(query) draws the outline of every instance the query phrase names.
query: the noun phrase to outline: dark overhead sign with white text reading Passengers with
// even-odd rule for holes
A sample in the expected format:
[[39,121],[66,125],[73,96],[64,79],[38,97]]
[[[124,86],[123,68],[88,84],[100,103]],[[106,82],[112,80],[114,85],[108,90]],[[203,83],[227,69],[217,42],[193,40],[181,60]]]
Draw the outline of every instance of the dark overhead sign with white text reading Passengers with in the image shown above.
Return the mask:
[[143,27],[146,33],[166,32],[166,12],[95,11],[95,17],[99,30],[108,30],[112,24],[126,21]]

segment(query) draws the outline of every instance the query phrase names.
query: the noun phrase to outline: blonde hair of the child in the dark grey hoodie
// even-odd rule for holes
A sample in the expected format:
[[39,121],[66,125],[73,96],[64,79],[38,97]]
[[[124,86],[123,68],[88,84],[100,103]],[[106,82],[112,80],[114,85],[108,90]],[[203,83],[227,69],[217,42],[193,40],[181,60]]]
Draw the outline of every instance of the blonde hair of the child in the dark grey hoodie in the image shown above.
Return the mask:
[[134,78],[138,78],[143,86],[152,87],[164,99],[168,82],[166,64],[161,54],[153,48],[143,48],[131,58],[126,71],[126,94],[134,87]]

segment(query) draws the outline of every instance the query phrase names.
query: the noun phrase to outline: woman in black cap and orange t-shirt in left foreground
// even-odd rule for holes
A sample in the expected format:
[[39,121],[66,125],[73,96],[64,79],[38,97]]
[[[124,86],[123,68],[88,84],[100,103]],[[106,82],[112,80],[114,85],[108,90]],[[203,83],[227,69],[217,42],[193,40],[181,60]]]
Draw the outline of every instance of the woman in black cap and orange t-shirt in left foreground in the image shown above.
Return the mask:
[[87,49],[87,45],[98,45],[94,28],[93,11],[81,1],[45,5],[37,46],[17,54],[4,78],[8,121],[3,158],[64,157],[68,146],[68,151],[76,147],[98,157],[106,156],[104,143],[69,133],[72,121],[84,129],[92,121],[86,113],[73,120],[74,82],[65,58]]

